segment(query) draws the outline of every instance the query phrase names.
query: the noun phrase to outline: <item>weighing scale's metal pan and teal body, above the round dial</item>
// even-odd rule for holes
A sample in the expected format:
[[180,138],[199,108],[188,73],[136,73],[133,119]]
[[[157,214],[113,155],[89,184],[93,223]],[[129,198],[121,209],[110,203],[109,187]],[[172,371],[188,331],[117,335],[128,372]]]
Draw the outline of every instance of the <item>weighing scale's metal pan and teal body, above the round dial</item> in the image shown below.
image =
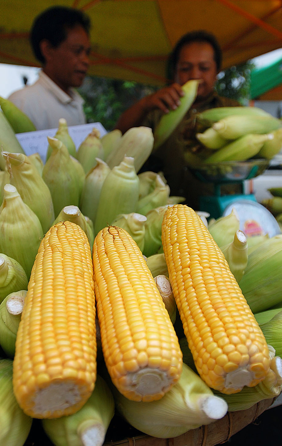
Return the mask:
[[[214,183],[214,195],[200,197],[200,211],[209,212],[214,219],[221,217],[232,202],[248,200],[257,202],[254,194],[244,194],[244,181],[260,175],[269,166],[269,161],[257,159],[252,161],[222,161],[190,169],[202,182]],[[222,195],[224,184],[238,184],[241,194]]]

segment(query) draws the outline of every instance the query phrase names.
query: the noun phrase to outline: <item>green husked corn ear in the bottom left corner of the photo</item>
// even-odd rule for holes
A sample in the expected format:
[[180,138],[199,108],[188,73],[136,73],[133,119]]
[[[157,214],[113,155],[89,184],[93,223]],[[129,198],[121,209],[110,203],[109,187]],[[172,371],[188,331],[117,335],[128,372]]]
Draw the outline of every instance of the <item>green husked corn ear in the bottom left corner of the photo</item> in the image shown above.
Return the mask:
[[32,425],[32,418],[18,405],[12,385],[12,359],[0,359],[0,445],[22,446]]

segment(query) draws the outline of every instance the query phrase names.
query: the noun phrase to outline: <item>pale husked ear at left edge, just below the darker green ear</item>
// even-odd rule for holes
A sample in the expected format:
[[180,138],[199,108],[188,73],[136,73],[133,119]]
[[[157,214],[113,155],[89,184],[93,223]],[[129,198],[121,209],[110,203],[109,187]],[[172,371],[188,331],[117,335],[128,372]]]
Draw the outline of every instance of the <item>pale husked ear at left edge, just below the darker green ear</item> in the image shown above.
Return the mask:
[[24,153],[24,149],[16,138],[16,134],[3,111],[0,111],[0,169],[5,170],[6,161],[2,155],[8,153]]

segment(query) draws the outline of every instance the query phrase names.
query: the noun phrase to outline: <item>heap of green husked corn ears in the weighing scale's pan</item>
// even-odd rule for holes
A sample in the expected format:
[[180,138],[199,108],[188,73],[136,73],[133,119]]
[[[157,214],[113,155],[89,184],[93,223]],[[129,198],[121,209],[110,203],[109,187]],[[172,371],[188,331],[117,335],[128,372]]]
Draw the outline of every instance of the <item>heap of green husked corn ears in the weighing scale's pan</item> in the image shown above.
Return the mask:
[[282,148],[282,121],[258,107],[213,108],[198,113],[196,120],[202,128],[196,133],[196,152],[205,164],[270,160]]

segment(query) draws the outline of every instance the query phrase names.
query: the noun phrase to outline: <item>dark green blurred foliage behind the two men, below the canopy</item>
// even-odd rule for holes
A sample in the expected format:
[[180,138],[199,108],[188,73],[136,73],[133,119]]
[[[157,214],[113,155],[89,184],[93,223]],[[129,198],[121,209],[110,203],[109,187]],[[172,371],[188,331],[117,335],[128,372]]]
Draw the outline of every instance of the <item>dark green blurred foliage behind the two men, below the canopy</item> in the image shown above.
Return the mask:
[[[247,105],[250,98],[250,72],[253,67],[251,62],[246,62],[221,71],[216,83],[218,94]],[[158,88],[131,81],[87,76],[78,91],[85,99],[87,121],[101,122],[110,131],[123,111]]]

